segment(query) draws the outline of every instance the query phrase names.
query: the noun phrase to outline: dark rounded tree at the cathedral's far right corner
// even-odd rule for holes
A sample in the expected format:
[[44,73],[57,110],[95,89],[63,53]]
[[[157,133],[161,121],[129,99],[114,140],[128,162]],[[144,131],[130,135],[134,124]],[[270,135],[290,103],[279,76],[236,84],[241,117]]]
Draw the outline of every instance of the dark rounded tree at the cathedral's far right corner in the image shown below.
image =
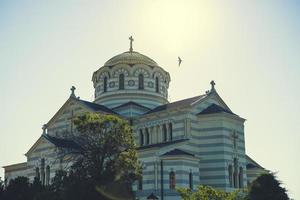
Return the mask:
[[287,190],[273,173],[262,174],[255,179],[249,190],[249,200],[288,200]]

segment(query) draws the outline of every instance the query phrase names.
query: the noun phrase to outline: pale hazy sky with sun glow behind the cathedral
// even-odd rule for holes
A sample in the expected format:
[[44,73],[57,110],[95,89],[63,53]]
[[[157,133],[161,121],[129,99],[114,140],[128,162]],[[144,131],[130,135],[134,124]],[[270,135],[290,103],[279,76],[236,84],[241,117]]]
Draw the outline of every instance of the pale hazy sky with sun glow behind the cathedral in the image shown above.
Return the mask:
[[214,80],[247,119],[247,154],[300,199],[299,18],[296,0],[0,0],[0,166],[26,160],[72,85],[92,101],[92,73],[132,35],[170,73],[170,101]]

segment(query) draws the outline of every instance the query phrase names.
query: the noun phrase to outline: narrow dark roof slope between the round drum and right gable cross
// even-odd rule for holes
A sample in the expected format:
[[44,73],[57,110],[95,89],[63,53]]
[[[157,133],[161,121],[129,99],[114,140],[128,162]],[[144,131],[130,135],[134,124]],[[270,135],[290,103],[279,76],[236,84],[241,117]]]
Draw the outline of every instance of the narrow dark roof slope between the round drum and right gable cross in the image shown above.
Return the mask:
[[149,112],[147,112],[146,114],[150,114],[150,113],[155,113],[155,112],[159,112],[159,111],[163,111],[163,110],[169,110],[169,109],[173,109],[173,108],[177,108],[177,107],[181,107],[181,106],[187,106],[187,105],[191,105],[192,103],[203,99],[204,97],[206,97],[207,95],[200,95],[200,96],[196,96],[196,97],[192,97],[192,98],[188,98],[188,99],[183,99],[180,101],[175,101],[172,103],[168,103],[168,104],[164,104],[161,106],[157,106],[156,108],[154,108],[153,110],[150,110]]

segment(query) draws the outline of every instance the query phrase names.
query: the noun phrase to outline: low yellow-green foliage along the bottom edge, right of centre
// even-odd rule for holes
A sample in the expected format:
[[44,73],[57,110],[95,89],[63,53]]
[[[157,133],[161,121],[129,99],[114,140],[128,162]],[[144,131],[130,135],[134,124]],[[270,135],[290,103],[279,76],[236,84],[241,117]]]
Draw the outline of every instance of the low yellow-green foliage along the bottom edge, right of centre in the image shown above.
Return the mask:
[[195,191],[179,188],[177,192],[183,200],[246,200],[246,191],[224,192],[210,186],[200,185]]

